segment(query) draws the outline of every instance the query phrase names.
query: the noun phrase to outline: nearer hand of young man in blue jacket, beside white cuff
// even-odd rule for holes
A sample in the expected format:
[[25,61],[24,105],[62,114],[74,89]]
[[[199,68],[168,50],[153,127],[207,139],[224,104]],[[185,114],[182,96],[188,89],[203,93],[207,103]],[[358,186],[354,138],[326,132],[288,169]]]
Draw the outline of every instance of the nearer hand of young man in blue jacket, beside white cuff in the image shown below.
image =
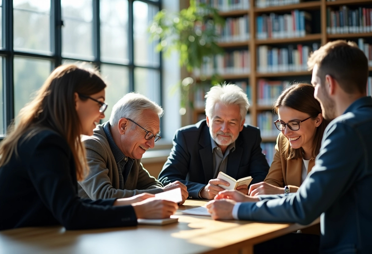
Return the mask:
[[231,199],[212,200],[206,204],[206,208],[212,219],[234,219],[232,217],[232,208],[234,208],[235,203]]

